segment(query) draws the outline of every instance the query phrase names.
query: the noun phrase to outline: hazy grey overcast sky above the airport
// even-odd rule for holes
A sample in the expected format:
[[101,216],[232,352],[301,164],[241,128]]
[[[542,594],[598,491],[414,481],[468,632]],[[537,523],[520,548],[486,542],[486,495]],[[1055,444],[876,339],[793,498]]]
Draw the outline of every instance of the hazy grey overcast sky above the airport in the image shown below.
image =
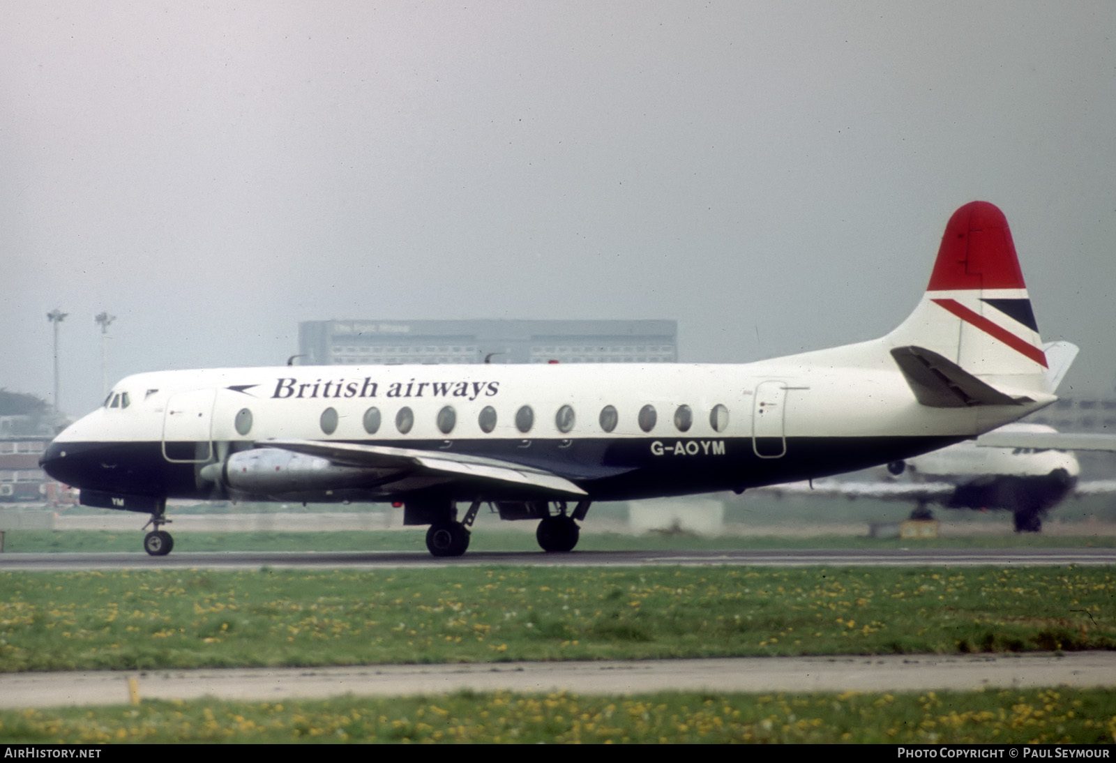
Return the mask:
[[0,387],[281,364],[328,318],[889,330],[1008,215],[1064,394],[1116,383],[1116,3],[0,0]]

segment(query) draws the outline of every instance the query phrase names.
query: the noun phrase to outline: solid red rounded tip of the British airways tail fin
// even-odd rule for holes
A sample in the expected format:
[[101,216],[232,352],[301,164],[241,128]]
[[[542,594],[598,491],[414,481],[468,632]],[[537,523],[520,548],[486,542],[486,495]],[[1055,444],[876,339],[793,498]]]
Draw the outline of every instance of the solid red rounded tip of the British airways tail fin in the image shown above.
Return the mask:
[[926,290],[1026,288],[1003,212],[979,201],[954,212]]

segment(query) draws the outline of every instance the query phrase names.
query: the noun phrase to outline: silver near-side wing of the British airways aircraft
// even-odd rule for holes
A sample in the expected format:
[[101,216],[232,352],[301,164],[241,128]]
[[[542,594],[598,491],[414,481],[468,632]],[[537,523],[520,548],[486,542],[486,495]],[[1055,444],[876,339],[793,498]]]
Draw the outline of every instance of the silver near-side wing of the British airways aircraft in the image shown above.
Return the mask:
[[569,495],[586,495],[584,490],[554,472],[497,458],[386,445],[326,443],[315,440],[269,440],[259,444],[264,447],[328,458],[343,466],[367,467],[379,472],[392,469],[398,469],[401,472],[425,471],[443,476],[452,474],[541,487]]

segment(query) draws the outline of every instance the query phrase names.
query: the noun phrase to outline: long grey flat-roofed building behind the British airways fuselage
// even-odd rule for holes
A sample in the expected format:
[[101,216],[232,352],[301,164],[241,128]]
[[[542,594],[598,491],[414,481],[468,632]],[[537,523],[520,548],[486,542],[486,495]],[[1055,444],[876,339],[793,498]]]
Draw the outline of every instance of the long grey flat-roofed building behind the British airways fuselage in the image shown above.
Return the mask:
[[676,363],[674,320],[307,320],[301,365]]

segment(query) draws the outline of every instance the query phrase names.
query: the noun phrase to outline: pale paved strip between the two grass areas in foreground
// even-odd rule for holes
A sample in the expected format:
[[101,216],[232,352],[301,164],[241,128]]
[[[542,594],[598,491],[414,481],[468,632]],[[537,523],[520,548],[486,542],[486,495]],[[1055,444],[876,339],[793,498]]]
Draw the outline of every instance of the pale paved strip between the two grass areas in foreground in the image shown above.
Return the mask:
[[0,675],[0,707],[526,692],[929,692],[1116,684],[1116,654],[1064,656],[747,657],[602,663],[371,665],[326,668],[22,673]]

